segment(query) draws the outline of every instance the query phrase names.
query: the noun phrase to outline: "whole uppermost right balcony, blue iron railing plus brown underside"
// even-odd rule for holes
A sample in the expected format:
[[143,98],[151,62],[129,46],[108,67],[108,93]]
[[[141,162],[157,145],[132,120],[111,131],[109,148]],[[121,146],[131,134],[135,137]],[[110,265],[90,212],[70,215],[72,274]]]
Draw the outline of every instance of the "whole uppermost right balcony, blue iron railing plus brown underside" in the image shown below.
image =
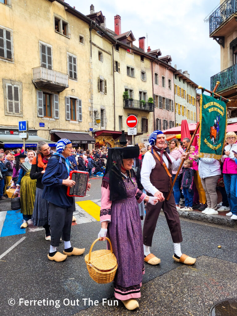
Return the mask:
[[[210,37],[225,36],[236,27],[235,17],[237,16],[237,0],[224,1],[212,14],[204,21],[209,21]],[[222,26],[226,26],[225,28]]]

